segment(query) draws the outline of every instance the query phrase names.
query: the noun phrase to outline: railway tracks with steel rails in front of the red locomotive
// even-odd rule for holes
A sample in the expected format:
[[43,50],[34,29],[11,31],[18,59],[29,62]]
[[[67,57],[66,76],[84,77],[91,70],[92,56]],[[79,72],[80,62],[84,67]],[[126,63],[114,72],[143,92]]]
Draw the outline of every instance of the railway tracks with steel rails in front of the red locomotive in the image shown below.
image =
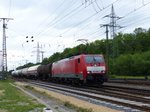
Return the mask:
[[[143,88],[123,88],[113,85],[104,85],[101,88],[96,87],[72,87],[55,83],[28,81],[34,86],[40,86],[45,89],[70,94],[89,102],[106,105],[111,108],[124,111],[149,111],[150,110],[150,90]],[[143,92],[142,92],[143,91]],[[105,104],[106,103],[106,104]],[[114,106],[114,107],[113,107]]]

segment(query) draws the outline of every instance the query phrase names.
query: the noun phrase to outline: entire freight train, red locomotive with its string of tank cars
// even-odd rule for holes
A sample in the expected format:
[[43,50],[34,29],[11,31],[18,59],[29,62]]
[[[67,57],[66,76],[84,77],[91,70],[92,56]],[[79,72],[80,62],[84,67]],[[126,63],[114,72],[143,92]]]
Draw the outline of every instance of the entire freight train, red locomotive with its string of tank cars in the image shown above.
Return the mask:
[[36,65],[12,72],[14,77],[71,83],[100,83],[107,81],[103,55],[81,54],[48,65]]

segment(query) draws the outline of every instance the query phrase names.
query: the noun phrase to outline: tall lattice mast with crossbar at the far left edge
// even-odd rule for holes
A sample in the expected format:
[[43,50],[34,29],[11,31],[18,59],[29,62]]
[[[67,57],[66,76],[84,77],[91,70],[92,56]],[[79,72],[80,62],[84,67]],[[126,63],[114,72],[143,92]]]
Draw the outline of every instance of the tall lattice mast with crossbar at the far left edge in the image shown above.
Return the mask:
[[2,71],[7,72],[7,49],[6,49],[6,32],[7,24],[5,21],[13,20],[13,18],[0,18],[3,21],[3,43],[2,43]]

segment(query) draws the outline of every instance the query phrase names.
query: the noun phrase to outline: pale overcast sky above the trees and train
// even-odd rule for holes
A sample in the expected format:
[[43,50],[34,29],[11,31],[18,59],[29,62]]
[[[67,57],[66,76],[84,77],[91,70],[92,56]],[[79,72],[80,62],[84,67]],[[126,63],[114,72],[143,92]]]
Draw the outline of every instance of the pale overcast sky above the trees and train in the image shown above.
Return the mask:
[[[133,32],[137,27],[149,28],[149,0],[0,0],[0,18],[13,18],[7,23],[8,69],[26,62],[36,63],[37,42],[44,57],[62,52],[88,39],[88,42],[105,38],[103,18],[111,13],[113,4],[117,32]],[[0,50],[2,50],[2,21],[0,22]],[[26,38],[28,36],[28,39]],[[34,42],[32,42],[33,36]],[[26,42],[28,41],[28,43]],[[40,54],[41,58],[41,54]]]

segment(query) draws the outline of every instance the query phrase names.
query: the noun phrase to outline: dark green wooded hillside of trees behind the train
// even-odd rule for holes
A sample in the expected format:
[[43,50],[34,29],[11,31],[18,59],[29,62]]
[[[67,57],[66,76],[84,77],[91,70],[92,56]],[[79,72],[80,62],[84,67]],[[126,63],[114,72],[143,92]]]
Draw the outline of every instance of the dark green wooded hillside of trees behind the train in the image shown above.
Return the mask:
[[[133,33],[120,32],[114,39],[108,40],[108,47],[110,77],[112,75],[150,75],[150,28],[148,30],[136,28]],[[61,53],[56,52],[49,58],[45,58],[41,64],[52,63],[82,53],[104,54],[106,57],[106,39],[66,48]],[[28,64],[23,67],[27,66]]]

